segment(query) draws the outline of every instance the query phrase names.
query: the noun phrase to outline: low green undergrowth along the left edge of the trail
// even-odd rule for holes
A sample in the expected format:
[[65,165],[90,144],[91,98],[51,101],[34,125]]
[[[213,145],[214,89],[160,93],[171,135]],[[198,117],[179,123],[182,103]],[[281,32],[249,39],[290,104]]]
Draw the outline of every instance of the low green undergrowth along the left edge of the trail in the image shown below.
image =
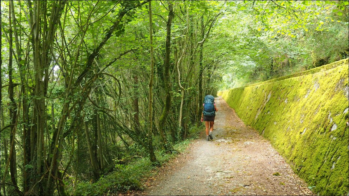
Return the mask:
[[[193,126],[190,128],[188,138],[173,145],[173,152],[166,153],[164,150],[155,151],[158,164],[150,162],[149,157],[131,156],[124,157],[131,162],[127,164],[114,164],[114,171],[102,176],[97,182],[91,181],[75,182],[75,186],[70,186],[67,189],[73,195],[114,195],[114,194],[129,194],[130,191],[142,191],[143,183],[148,178],[154,177],[158,173],[158,168],[165,165],[167,162],[177,157],[186,151],[191,141],[199,138],[200,132],[205,127]],[[155,138],[154,138],[155,139]],[[117,161],[118,162],[118,161]]]

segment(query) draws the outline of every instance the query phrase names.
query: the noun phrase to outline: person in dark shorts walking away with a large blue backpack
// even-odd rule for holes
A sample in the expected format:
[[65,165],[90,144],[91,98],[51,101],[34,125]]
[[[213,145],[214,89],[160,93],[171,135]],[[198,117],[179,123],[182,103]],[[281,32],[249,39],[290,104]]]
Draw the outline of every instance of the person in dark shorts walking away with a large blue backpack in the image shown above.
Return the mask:
[[[217,111],[215,97],[212,95],[206,95],[203,99],[203,109],[201,114],[201,122],[205,121],[206,126],[206,141],[210,141],[210,139],[213,140],[212,131]],[[209,133],[208,128],[210,128]]]

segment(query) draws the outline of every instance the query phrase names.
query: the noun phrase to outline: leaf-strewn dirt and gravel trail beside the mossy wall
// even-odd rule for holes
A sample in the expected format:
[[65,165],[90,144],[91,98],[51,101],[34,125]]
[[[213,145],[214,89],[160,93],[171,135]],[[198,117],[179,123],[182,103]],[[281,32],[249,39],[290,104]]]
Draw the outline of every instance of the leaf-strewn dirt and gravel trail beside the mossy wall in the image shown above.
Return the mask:
[[[218,97],[213,140],[206,135],[163,168],[142,195],[313,195],[271,146]],[[280,175],[273,175],[278,172]]]

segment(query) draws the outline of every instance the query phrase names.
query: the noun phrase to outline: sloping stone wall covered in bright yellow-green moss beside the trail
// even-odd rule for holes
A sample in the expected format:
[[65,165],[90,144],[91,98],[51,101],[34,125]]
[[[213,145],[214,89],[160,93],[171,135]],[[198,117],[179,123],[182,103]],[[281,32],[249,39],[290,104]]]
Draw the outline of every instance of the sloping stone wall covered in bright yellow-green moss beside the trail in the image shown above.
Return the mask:
[[348,58],[218,92],[319,195],[348,195]]

